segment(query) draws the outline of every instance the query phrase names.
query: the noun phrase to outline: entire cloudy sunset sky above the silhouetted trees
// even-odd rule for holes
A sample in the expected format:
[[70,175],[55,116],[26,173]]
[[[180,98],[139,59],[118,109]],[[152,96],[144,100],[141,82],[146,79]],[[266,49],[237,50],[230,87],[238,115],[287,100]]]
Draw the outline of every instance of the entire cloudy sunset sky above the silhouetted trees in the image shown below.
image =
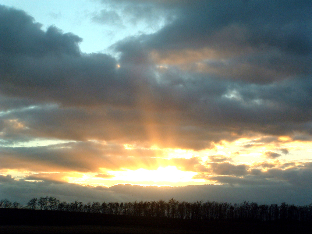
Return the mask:
[[0,198],[311,204],[311,9],[0,0]]

